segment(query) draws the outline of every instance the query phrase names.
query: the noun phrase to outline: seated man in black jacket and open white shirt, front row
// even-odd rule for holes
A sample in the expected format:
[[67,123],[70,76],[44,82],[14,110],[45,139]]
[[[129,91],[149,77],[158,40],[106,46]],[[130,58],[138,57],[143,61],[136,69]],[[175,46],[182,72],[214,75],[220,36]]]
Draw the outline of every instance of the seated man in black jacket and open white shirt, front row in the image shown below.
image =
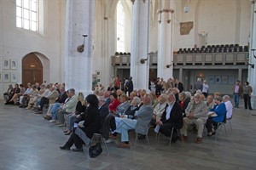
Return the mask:
[[167,105],[159,121],[156,121],[155,132],[160,128],[160,133],[170,137],[172,134],[172,127],[175,128],[172,134],[172,142],[178,139],[177,129],[183,127],[183,110],[177,104],[175,94],[169,94],[167,98]]

